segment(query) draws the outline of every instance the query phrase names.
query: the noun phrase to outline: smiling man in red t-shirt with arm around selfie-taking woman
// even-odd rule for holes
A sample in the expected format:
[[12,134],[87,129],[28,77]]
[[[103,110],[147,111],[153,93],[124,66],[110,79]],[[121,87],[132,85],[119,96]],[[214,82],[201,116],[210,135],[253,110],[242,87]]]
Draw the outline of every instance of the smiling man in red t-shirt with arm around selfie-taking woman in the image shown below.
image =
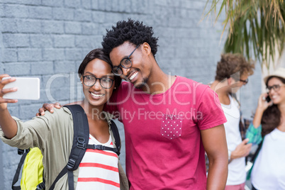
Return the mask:
[[223,189],[228,150],[218,96],[206,85],[165,74],[155,60],[157,40],[152,27],[129,19],[107,30],[102,43],[113,73],[130,81],[106,107],[125,127],[130,189]]

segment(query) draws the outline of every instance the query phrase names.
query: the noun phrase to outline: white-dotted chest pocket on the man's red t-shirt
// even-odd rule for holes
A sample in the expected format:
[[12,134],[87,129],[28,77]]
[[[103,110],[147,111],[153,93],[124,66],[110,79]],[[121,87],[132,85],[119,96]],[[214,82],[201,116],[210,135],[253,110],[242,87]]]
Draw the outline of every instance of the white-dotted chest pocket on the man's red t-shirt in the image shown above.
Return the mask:
[[164,114],[160,128],[161,135],[170,140],[181,137],[182,120],[183,116]]

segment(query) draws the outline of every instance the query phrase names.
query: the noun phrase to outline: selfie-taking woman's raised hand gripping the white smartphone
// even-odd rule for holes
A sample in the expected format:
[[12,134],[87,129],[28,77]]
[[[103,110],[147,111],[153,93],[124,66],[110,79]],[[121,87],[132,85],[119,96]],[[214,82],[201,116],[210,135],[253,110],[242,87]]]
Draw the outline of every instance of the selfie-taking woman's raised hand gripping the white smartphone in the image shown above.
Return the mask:
[[4,99],[3,96],[9,92],[17,91],[17,88],[3,89],[6,84],[16,81],[15,78],[3,79],[4,77],[10,77],[9,74],[0,75],[0,109],[4,110],[7,108],[7,103],[16,103],[16,99]]

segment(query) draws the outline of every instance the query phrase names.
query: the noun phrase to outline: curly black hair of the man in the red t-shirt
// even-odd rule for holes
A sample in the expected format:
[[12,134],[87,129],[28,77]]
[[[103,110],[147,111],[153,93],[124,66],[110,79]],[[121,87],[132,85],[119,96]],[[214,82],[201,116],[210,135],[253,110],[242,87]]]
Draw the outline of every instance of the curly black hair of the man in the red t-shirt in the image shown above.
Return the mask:
[[152,49],[152,55],[155,57],[157,52],[157,40],[152,36],[152,27],[143,25],[143,22],[118,21],[116,26],[112,26],[111,30],[107,29],[106,35],[103,37],[102,47],[104,52],[109,55],[113,48],[122,45],[126,41],[133,43],[135,46],[148,43]]

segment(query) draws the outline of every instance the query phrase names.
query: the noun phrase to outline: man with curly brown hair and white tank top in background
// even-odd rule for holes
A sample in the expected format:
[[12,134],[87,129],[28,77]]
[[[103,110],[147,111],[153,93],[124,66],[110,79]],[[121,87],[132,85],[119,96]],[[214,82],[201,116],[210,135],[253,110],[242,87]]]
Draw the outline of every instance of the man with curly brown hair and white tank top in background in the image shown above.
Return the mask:
[[216,91],[227,122],[225,136],[228,143],[228,179],[226,190],[245,189],[245,157],[249,155],[252,144],[242,140],[240,133],[240,105],[233,95],[247,84],[253,74],[255,63],[245,60],[239,54],[221,55],[216,69],[216,77],[211,89]]

